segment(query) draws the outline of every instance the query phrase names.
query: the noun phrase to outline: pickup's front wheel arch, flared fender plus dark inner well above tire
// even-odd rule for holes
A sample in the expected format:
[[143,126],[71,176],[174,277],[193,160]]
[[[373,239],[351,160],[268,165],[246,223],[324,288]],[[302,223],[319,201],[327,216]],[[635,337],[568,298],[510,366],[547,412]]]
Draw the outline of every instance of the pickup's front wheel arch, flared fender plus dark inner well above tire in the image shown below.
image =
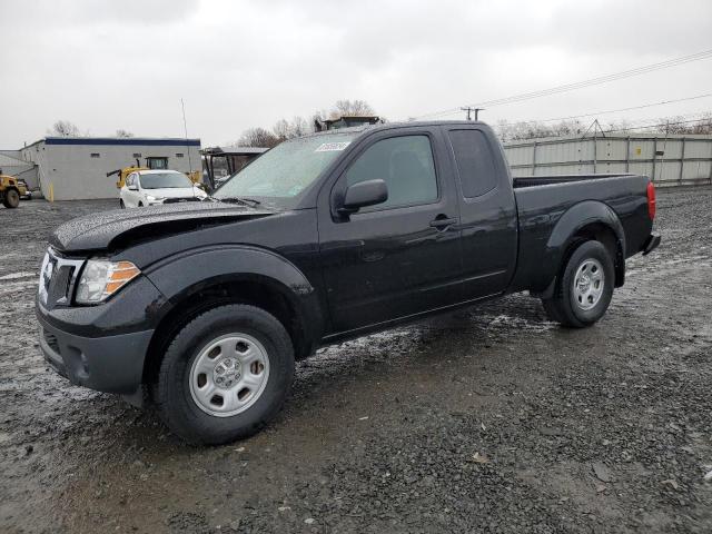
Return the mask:
[[229,246],[186,253],[147,273],[166,296],[147,352],[144,382],[155,379],[170,339],[210,308],[247,304],[274,315],[287,329],[295,358],[304,359],[323,336],[316,291],[294,264],[254,247]]

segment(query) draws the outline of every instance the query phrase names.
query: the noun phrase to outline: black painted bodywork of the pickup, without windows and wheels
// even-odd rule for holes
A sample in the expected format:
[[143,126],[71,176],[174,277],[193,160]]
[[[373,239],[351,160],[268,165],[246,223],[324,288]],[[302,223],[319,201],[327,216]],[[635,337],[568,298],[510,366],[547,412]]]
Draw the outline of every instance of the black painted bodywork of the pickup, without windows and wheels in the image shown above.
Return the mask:
[[[319,135],[328,141],[328,132]],[[429,140],[438,198],[355,214],[339,209],[356,158],[378,140],[404,135]],[[463,152],[471,141],[476,157]],[[610,236],[616,249],[620,285],[625,258],[650,243],[647,184],[633,175],[513,180],[501,145],[481,122],[366,128],[288,209],[201,202],[62,225],[50,238],[58,254],[130,260],[142,276],[100,306],[38,303],[37,313],[58,338],[93,339],[80,345],[97,353],[81,356],[96,368],[106,360],[101,339],[150,337],[202,289],[229,283],[259,283],[281,295],[310,347],[506,293],[545,291],[571,243],[594,231]],[[135,369],[146,348],[121,357]]]

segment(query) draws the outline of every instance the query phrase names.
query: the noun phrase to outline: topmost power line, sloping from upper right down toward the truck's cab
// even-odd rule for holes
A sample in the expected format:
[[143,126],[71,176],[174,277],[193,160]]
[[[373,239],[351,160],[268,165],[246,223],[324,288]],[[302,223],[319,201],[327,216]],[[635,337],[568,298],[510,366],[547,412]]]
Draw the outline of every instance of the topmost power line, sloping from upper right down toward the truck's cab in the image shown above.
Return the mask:
[[[692,53],[690,56],[682,56],[679,58],[673,58],[673,59],[669,59],[665,61],[660,61],[657,63],[651,63],[651,65],[646,65],[646,66],[642,66],[642,67],[636,67],[633,69],[627,69],[627,70],[623,70],[620,72],[614,72],[611,75],[604,75],[604,76],[600,76],[596,78],[590,78],[587,80],[582,80],[582,81],[576,81],[576,82],[572,82],[572,83],[565,83],[563,86],[556,86],[556,87],[552,87],[548,89],[541,89],[537,91],[531,91],[531,92],[523,92],[520,95],[512,95],[510,97],[505,97],[505,98],[498,98],[498,99],[493,99],[493,100],[485,100],[485,101],[481,101],[474,105],[469,105],[468,107],[479,107],[479,106],[487,106],[487,107],[492,107],[492,106],[503,106],[506,103],[515,103],[515,102],[521,102],[523,100],[530,100],[533,98],[542,98],[542,97],[547,97],[551,95],[557,95],[561,92],[567,92],[567,91],[573,91],[576,89],[583,89],[586,87],[592,87],[592,86],[597,86],[601,83],[609,83],[611,81],[616,81],[616,80],[621,80],[624,78],[631,78],[633,76],[640,76],[640,75],[645,75],[647,72],[653,72],[655,70],[661,70],[661,69],[669,69],[671,67],[678,67],[680,65],[684,65],[684,63],[689,63],[692,61],[700,61],[703,59],[709,59],[712,57],[712,49],[710,50],[703,50],[701,52],[696,52],[696,53]],[[459,108],[451,108],[451,109],[445,109],[442,111],[435,111],[432,113],[426,113],[426,115],[422,115],[419,117],[417,117],[418,119],[423,119],[423,118],[428,118],[428,117],[437,117],[437,116],[443,116],[443,115],[452,115],[454,112],[459,111]]]

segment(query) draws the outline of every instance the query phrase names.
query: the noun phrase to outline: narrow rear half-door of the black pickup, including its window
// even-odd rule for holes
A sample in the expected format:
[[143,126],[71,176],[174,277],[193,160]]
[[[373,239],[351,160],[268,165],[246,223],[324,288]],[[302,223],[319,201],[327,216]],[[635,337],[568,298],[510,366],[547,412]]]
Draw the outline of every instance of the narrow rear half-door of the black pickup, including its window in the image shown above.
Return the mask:
[[467,299],[506,289],[517,257],[517,218],[506,160],[491,130],[445,127],[457,176]]

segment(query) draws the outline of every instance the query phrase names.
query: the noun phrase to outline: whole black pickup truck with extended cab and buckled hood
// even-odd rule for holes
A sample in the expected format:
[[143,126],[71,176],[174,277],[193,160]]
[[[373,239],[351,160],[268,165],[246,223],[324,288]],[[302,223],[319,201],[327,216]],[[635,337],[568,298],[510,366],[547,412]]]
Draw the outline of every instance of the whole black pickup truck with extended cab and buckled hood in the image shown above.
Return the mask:
[[512,179],[481,122],[315,134],[202,202],[60,226],[40,346],[72,383],[225,443],[275,415],[319,346],[523,290],[552,320],[592,325],[626,258],[659,245],[654,215],[644,176]]

